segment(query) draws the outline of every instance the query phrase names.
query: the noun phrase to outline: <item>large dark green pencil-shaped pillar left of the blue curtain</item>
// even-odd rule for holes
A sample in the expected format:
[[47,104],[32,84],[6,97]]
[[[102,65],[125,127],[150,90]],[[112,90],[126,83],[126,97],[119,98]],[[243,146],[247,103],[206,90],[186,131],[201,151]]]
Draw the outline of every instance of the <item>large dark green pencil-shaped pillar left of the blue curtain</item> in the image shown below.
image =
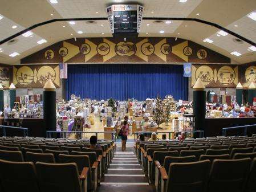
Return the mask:
[[56,130],[56,88],[51,79],[48,79],[43,89],[43,117],[46,130]]

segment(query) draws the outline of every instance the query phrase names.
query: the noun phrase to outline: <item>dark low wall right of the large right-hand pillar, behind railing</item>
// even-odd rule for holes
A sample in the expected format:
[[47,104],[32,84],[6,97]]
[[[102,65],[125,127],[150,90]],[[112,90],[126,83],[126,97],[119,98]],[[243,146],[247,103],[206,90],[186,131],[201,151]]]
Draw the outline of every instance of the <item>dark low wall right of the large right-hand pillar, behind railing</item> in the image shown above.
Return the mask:
[[[243,126],[256,124],[256,117],[244,118],[206,118],[205,119],[205,137],[222,136],[222,128],[232,126]],[[247,129],[247,134],[250,136],[256,133],[256,127]],[[227,131],[227,136],[243,135],[243,129],[232,129]]]

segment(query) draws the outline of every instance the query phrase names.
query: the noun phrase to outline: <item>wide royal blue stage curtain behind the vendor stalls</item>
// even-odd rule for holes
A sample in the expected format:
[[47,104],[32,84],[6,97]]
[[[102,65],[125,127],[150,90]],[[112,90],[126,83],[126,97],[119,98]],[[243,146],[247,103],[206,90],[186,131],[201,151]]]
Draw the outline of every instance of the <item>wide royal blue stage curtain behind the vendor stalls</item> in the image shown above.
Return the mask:
[[182,65],[169,64],[76,64],[68,65],[66,96],[139,101],[159,94],[188,100],[188,77]]

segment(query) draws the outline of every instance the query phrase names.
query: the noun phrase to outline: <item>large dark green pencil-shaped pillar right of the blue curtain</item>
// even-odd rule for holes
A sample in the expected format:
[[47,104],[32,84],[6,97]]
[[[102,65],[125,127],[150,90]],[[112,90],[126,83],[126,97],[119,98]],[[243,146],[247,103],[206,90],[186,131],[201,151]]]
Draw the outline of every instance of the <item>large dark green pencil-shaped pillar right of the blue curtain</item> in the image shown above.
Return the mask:
[[198,78],[193,87],[194,130],[205,130],[205,86]]

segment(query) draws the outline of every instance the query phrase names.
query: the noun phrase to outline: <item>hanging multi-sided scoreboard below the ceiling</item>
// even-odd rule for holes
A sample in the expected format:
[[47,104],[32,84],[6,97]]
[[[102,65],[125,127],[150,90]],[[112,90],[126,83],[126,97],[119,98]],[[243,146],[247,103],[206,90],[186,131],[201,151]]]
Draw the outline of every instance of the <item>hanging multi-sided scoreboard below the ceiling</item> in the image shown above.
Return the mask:
[[106,11],[112,33],[140,32],[143,6],[112,5]]

